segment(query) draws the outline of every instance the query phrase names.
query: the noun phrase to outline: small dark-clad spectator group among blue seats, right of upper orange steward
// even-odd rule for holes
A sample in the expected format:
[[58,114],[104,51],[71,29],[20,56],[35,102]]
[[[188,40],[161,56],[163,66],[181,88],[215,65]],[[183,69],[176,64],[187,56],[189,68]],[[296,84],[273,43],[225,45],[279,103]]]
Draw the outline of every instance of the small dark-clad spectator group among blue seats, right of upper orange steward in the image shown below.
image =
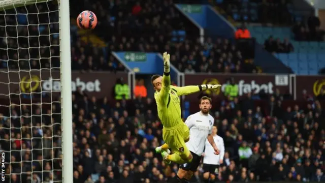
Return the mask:
[[290,53],[294,52],[295,48],[293,44],[291,44],[287,38],[285,38],[282,42],[279,38],[274,39],[273,36],[270,36],[264,42],[264,48],[269,52],[276,53]]

